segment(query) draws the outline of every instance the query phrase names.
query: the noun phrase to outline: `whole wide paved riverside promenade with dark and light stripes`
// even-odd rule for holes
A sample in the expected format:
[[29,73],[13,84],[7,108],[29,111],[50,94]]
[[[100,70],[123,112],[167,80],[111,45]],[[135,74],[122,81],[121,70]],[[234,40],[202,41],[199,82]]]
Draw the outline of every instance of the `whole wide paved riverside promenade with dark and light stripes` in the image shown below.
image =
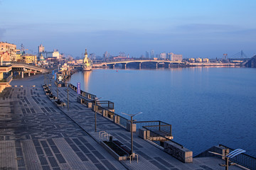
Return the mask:
[[[76,101],[69,90],[70,109],[58,108],[47,98],[43,75],[11,82],[0,94],[0,169],[225,169],[215,157],[193,158],[184,164],[134,133],[134,152],[139,163],[119,162],[101,145],[98,132],[104,130],[130,147],[130,132]],[[15,87],[15,85],[17,87]],[[35,85],[35,87],[33,87]],[[23,86],[23,87],[21,87]],[[56,86],[52,91],[57,96]],[[67,88],[58,88],[67,103]],[[230,166],[229,169],[239,169]]]

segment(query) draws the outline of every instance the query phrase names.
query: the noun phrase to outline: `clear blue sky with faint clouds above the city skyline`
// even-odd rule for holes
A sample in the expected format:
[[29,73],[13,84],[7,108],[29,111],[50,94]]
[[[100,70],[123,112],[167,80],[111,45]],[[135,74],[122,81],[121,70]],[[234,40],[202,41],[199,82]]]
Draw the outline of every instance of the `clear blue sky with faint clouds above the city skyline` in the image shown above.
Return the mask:
[[255,0],[0,0],[0,41],[81,57],[256,54]]

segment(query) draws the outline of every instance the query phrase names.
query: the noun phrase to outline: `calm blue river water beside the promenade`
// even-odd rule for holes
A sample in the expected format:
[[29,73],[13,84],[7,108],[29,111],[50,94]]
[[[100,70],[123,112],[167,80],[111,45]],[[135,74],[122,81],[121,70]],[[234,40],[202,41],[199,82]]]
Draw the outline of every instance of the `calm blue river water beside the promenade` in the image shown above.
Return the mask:
[[113,101],[115,113],[170,123],[193,155],[223,144],[256,156],[256,69],[94,69],[70,82]]

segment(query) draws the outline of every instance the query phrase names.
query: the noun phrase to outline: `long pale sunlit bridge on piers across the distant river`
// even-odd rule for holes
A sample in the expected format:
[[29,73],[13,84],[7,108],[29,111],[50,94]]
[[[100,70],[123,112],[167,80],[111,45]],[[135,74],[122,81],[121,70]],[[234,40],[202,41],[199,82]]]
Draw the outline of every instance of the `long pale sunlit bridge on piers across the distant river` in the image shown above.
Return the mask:
[[142,63],[144,62],[153,62],[156,64],[156,69],[159,64],[168,64],[170,67],[171,64],[185,64],[185,62],[181,61],[168,61],[168,60],[126,60],[126,61],[116,61],[116,62],[101,62],[98,64],[92,64],[92,67],[107,67],[110,66],[114,69],[115,64],[122,64],[123,68],[127,68],[127,64],[129,63],[138,63],[139,69],[142,69]]

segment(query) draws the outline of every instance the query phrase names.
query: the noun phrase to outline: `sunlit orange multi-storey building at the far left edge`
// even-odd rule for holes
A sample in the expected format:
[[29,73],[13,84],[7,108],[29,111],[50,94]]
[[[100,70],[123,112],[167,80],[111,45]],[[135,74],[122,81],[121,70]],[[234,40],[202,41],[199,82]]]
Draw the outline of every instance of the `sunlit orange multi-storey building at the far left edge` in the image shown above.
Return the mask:
[[16,61],[16,45],[0,42],[0,55],[4,62]]

